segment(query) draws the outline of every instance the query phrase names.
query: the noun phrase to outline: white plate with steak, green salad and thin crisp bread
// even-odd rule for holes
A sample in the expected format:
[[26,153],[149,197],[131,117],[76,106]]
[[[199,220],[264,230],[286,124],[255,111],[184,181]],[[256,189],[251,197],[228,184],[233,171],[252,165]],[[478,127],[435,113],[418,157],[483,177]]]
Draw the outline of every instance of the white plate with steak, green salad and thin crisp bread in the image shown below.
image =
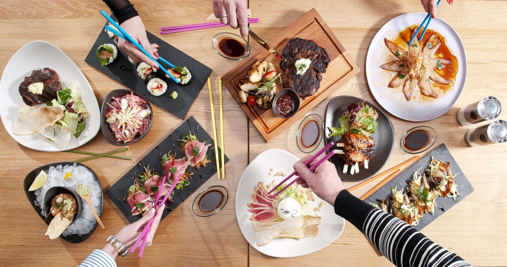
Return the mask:
[[[67,145],[60,149],[52,141],[42,135],[15,135],[12,133],[12,125],[17,121],[19,108],[24,105],[21,95],[18,92],[19,85],[24,78],[31,74],[32,70],[49,67],[54,69],[58,75],[62,87],[75,86],[81,90],[81,98],[90,113],[86,119],[86,128],[79,138],[72,136]],[[61,151],[73,149],[90,141],[97,135],[100,129],[100,109],[97,98],[93,93],[88,80],[83,72],[63,51],[58,47],[44,42],[33,41],[20,48],[7,62],[2,79],[0,79],[0,117],[6,131],[11,137],[23,146],[40,151]],[[44,105],[44,104],[39,104]]]

